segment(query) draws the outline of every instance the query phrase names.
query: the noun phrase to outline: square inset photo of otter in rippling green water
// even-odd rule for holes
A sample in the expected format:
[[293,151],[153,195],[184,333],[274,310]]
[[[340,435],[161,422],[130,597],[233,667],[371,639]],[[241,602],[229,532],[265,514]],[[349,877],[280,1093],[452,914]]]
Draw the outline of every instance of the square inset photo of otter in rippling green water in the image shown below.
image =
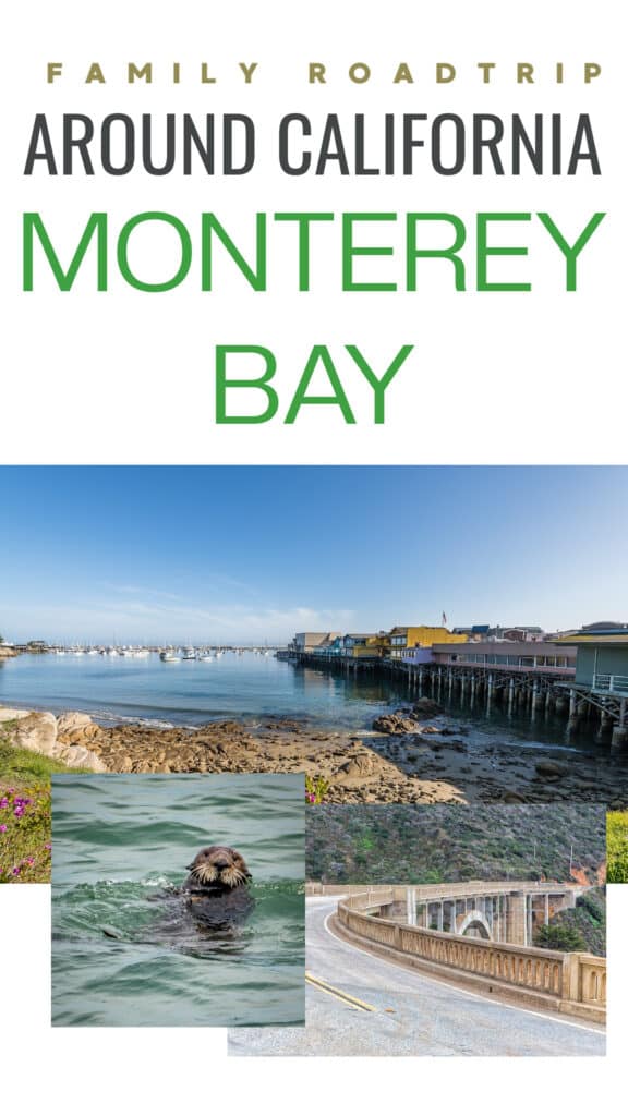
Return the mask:
[[299,1027],[301,775],[53,778],[53,1026]]

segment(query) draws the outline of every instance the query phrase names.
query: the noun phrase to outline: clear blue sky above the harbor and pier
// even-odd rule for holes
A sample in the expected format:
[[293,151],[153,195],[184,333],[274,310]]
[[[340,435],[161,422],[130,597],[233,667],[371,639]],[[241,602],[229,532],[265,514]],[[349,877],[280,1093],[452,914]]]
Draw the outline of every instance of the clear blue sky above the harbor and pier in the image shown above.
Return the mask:
[[0,468],[0,633],[628,620],[628,468]]

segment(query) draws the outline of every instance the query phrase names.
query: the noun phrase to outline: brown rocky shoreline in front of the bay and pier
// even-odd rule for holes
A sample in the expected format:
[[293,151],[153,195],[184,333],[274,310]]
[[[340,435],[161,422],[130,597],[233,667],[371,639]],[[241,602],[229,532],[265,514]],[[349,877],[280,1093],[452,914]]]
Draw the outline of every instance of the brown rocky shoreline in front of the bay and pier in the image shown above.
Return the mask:
[[11,723],[11,742],[93,771],[303,771],[325,780],[326,802],[628,804],[622,756],[478,744],[467,727],[441,714],[421,699],[356,735],[284,718],[265,718],[255,728],[238,721],[197,729],[103,727],[84,713],[55,718],[0,709],[0,729]]

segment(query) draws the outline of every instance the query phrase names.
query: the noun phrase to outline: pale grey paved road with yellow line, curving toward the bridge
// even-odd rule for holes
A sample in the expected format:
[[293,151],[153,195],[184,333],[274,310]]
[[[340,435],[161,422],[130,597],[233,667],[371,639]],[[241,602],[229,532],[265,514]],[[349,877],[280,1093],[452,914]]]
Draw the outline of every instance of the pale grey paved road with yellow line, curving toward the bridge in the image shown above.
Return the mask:
[[601,1027],[513,1008],[374,958],[332,936],[335,901],[306,903],[307,972],[351,999],[308,982],[305,1028],[231,1029],[230,1055],[606,1054]]

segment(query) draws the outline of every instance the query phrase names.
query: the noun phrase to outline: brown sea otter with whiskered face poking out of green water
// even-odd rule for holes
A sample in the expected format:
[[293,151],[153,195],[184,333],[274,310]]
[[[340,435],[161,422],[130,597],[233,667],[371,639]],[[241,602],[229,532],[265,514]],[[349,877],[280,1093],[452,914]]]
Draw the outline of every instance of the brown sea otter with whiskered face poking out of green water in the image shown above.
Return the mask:
[[181,892],[203,927],[229,930],[249,914],[254,899],[244,857],[227,845],[209,845],[188,865]]

